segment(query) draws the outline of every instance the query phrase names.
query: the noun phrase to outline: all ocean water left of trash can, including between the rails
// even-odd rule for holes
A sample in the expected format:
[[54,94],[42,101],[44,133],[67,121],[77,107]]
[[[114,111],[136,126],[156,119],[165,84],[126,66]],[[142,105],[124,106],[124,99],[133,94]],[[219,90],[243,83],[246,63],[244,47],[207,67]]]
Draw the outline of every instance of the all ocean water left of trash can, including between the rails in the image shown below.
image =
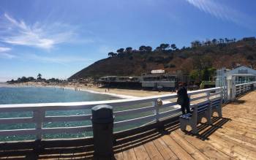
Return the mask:
[[[4,83],[0,84],[0,104],[29,104],[29,103],[48,103],[48,102],[89,102],[121,99],[117,96],[110,96],[106,94],[94,94],[88,91],[75,91],[67,88],[53,88],[53,87],[15,87]],[[46,116],[54,115],[86,115],[90,114],[91,110],[50,110],[45,113]],[[11,112],[1,113],[0,118],[23,118],[31,117],[32,112]],[[90,125],[91,121],[71,121],[71,122],[49,122],[44,123],[43,127],[69,127],[69,126],[86,126]],[[33,129],[35,123],[20,123],[20,124],[4,124],[0,123],[0,130],[10,129]],[[45,134],[44,139],[53,138],[70,138],[70,137],[88,137],[91,132],[78,134]],[[0,141],[12,140],[34,140],[35,135],[0,137]]]

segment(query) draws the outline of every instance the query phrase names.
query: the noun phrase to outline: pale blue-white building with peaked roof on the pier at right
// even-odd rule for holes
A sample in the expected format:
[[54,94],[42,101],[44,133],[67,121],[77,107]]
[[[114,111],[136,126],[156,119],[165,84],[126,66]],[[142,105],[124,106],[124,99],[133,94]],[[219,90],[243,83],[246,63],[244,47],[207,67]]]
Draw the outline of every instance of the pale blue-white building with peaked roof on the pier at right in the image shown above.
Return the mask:
[[256,70],[247,66],[238,66],[235,69],[218,69],[216,86],[225,86],[227,80],[235,80],[236,84],[256,81]]

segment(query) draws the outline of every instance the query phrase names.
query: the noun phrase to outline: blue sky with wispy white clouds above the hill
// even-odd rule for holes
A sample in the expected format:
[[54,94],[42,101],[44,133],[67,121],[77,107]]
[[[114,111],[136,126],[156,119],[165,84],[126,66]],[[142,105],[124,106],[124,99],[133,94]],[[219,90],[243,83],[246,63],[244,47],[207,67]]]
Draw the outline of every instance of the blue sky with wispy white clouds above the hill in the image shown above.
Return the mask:
[[120,47],[252,37],[254,0],[1,0],[0,81],[65,79]]

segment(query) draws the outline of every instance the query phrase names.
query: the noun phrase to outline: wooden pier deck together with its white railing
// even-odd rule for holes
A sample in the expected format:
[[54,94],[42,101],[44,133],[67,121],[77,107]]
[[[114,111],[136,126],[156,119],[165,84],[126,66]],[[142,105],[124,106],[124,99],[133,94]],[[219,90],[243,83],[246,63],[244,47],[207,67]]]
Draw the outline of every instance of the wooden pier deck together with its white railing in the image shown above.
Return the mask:
[[[198,134],[181,132],[179,129],[181,109],[176,104],[176,94],[99,102],[1,104],[0,113],[31,113],[29,117],[0,118],[1,124],[34,124],[34,128],[29,129],[0,130],[1,137],[35,136],[34,140],[0,142],[0,157],[94,159],[91,113],[50,113],[72,113],[74,110],[91,110],[96,105],[108,104],[113,107],[115,115],[113,159],[256,159],[256,92],[253,91],[256,83],[230,86],[189,92],[191,106],[219,98],[224,103],[222,118],[213,116],[211,125],[202,121],[198,125]],[[159,99],[163,102],[161,105],[158,104]],[[83,123],[79,126],[46,125],[72,121]],[[50,140],[51,134],[78,134],[78,137],[64,136]]]

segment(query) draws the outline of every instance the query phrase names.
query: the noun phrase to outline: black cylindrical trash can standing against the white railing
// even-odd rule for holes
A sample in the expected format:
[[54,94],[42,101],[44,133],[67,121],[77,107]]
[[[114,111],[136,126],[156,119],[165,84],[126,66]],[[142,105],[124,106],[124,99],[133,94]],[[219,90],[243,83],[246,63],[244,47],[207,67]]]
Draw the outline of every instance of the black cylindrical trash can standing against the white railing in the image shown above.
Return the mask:
[[94,134],[94,156],[113,157],[113,107],[97,105],[91,109],[91,123]]

